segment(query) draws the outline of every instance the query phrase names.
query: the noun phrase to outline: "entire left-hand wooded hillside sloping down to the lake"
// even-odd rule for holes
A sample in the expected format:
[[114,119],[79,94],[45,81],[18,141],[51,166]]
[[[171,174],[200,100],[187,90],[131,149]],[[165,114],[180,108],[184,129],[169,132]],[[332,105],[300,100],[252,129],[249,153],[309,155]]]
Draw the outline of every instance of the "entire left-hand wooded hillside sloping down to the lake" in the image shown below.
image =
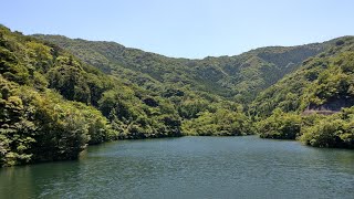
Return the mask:
[[0,166],[74,159],[87,144],[180,128],[169,100],[0,25]]

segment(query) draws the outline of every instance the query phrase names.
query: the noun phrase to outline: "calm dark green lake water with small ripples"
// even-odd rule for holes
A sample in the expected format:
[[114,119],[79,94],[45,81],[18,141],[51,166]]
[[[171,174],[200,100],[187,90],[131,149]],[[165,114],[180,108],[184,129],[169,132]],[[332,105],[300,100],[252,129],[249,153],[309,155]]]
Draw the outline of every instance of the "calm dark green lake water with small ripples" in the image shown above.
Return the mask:
[[354,198],[354,151],[248,137],[92,146],[0,169],[0,198]]

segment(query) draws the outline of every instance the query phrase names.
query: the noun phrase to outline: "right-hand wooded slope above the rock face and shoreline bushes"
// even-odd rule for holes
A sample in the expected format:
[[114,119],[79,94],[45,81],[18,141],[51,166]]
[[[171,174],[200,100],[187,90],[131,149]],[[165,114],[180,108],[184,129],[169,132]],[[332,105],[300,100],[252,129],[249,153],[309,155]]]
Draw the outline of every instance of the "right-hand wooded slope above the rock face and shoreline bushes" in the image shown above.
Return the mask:
[[335,45],[310,57],[298,71],[260,93],[251,109],[263,117],[275,108],[302,113],[306,107],[320,108],[333,101],[344,100],[350,104],[353,97],[351,62],[354,38],[345,36],[332,42]]

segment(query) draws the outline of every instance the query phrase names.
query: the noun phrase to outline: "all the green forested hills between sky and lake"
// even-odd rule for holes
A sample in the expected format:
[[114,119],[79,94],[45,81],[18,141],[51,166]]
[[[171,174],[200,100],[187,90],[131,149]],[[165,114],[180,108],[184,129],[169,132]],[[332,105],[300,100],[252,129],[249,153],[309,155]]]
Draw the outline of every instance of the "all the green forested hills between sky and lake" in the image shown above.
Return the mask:
[[[171,59],[0,27],[0,165],[74,159],[87,144],[112,139],[183,135],[258,132],[353,147],[352,109],[340,112],[354,105],[353,54],[353,38],[342,38]],[[337,125],[323,126],[327,121]]]

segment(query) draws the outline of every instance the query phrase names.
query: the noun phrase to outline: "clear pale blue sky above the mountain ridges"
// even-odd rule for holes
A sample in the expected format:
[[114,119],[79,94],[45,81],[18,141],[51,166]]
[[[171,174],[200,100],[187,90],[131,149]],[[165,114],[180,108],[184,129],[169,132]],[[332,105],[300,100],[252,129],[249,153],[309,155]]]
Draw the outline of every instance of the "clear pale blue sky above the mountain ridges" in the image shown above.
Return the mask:
[[8,0],[0,23],[200,59],[353,35],[353,0]]

